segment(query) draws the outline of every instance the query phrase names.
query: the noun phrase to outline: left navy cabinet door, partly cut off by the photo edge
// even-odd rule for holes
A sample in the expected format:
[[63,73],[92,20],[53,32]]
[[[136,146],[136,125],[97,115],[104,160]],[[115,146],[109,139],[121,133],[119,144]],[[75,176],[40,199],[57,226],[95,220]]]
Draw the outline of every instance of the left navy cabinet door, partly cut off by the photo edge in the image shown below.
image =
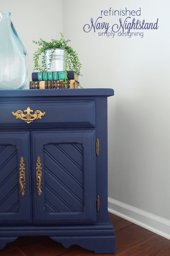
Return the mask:
[[32,222],[29,151],[28,132],[0,133],[0,223]]

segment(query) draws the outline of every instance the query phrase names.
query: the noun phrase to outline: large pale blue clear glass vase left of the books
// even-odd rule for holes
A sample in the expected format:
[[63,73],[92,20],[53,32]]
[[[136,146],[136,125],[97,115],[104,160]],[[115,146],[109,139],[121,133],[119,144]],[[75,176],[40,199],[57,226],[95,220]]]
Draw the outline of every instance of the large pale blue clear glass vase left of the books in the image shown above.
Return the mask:
[[28,82],[27,52],[10,20],[10,12],[0,11],[0,89],[25,89]]

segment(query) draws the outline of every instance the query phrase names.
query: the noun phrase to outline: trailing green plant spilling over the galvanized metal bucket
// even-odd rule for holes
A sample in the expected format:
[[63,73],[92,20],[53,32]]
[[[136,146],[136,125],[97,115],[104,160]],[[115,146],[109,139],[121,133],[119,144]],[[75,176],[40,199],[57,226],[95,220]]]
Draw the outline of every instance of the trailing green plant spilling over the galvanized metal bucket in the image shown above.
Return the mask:
[[[77,75],[80,75],[81,64],[80,64],[78,56],[77,56],[78,54],[73,50],[73,48],[71,48],[70,46],[67,45],[67,43],[70,42],[71,40],[65,41],[63,34],[62,33],[60,33],[60,34],[61,34],[60,40],[52,39],[51,42],[46,42],[40,38],[40,41],[38,41],[38,42],[33,41],[35,44],[38,44],[39,46],[41,46],[40,48],[38,48],[37,52],[34,53],[34,58],[33,58],[34,70],[33,70],[33,72],[35,70],[39,70],[40,72],[46,72],[46,73],[48,73],[49,71],[60,71],[60,70],[51,70],[50,68],[51,68],[52,58],[53,58],[55,50],[63,49],[64,55],[66,56],[66,58],[65,58],[64,70],[61,70],[61,71],[67,72],[67,68],[69,68],[70,71],[74,70],[77,73]],[[49,63],[47,64],[46,55],[47,55],[48,50],[50,50],[50,55],[49,55],[50,58],[49,58]],[[42,67],[40,67],[40,65],[38,64],[38,60],[39,60],[39,56],[42,53],[43,53]],[[67,79],[67,77],[66,77],[66,79]],[[65,87],[67,88],[66,80],[65,80]]]

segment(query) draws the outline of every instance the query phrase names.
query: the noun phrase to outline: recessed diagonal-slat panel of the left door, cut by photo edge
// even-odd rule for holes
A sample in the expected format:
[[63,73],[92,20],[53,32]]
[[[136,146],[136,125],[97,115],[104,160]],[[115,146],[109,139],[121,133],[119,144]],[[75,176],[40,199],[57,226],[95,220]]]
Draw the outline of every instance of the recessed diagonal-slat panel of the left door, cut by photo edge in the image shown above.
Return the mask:
[[0,212],[19,212],[17,150],[0,145]]

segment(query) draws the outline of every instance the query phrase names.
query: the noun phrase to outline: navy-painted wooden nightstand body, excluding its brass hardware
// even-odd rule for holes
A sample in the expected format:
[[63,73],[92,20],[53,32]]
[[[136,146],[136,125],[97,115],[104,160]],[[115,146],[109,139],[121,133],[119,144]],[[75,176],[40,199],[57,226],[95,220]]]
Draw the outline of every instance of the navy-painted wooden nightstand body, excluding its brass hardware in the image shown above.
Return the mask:
[[[77,244],[96,253],[115,252],[114,228],[107,211],[107,97],[112,95],[112,89],[0,91],[0,156],[15,155],[9,168],[0,169],[0,178],[5,183],[13,167],[9,184],[18,189],[14,208],[4,204],[4,213],[0,208],[0,248],[18,236],[46,235],[67,248]],[[11,114],[28,107],[46,114],[29,124]],[[100,141],[98,157],[96,139]],[[1,145],[7,146],[6,153],[1,153]],[[26,167],[23,197],[17,183],[20,155]],[[40,196],[38,155],[43,175]],[[3,193],[7,194],[6,189]]]

